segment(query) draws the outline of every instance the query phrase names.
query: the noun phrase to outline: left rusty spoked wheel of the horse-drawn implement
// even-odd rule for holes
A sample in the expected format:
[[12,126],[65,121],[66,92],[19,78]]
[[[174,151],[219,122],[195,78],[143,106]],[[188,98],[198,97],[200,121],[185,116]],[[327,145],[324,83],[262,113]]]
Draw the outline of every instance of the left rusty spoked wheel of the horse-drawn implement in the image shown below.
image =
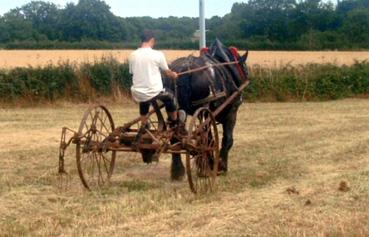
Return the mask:
[[103,144],[113,131],[113,119],[104,106],[85,112],[78,130],[76,156],[79,177],[90,191],[106,185],[113,174],[116,152],[106,150]]

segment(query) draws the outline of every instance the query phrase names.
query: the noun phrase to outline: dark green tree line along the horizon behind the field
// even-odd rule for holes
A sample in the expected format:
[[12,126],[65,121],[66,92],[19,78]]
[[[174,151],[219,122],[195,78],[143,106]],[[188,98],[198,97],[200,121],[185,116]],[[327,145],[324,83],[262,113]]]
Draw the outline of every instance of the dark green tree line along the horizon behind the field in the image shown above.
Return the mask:
[[[209,1],[208,4],[211,4]],[[248,49],[368,49],[369,0],[249,0],[207,19],[209,42]],[[2,48],[134,48],[151,29],[160,48],[197,48],[193,17],[119,17],[103,0],[60,8],[32,1],[0,16]]]

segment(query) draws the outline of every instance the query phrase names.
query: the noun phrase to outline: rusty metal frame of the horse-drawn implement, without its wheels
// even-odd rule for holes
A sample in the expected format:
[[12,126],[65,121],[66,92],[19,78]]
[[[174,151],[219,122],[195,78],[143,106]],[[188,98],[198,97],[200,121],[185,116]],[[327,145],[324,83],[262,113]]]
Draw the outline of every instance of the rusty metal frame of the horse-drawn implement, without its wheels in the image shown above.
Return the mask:
[[[237,62],[230,62],[230,63],[222,63],[218,65],[212,65],[212,67],[215,66],[225,66],[225,65],[232,65],[237,64]],[[200,70],[205,70],[206,68],[209,68],[209,66],[197,68],[190,70],[189,72],[196,72]],[[184,73],[182,73],[184,74]],[[179,74],[180,75],[180,74]],[[247,77],[246,77],[247,79]],[[206,151],[206,147],[197,147],[197,144],[193,144],[193,140],[198,139],[198,134],[202,134],[201,132],[206,129],[207,126],[210,125],[211,122],[214,123],[214,118],[217,117],[229,104],[231,104],[238,96],[240,96],[243,92],[243,90],[249,85],[249,80],[246,80],[237,91],[232,93],[226,100],[214,111],[211,112],[211,116],[205,119],[204,122],[201,123],[200,126],[198,126],[194,131],[191,131],[190,135],[180,135],[177,134],[175,129],[169,128],[165,129],[166,124],[162,116],[161,109],[164,107],[163,104],[155,104],[153,105],[154,108],[150,110],[150,112],[147,115],[147,119],[150,118],[154,113],[157,113],[159,125],[160,121],[163,124],[163,128],[157,128],[159,130],[150,130],[145,129],[145,133],[142,135],[142,138],[144,139],[150,139],[152,142],[149,144],[145,143],[139,143],[137,147],[132,146],[132,139],[135,137],[135,134],[137,136],[137,133],[140,129],[134,129],[131,128],[133,125],[139,124],[141,121],[140,117],[137,117],[136,119],[125,123],[122,127],[115,128],[109,135],[106,137],[102,142],[98,142],[98,144],[95,144],[93,149],[95,152],[106,152],[106,151],[113,151],[113,152],[139,152],[141,149],[148,149],[155,151],[155,156],[157,158],[161,154],[186,154],[190,155],[193,152],[197,152],[199,149],[201,151]],[[220,95],[219,95],[220,96]],[[223,97],[223,95],[222,95]],[[209,103],[209,98],[206,98],[204,102]],[[104,107],[106,110],[106,108]],[[108,112],[108,111],[107,111]],[[110,113],[109,113],[110,114]],[[96,115],[95,115],[96,116]],[[109,115],[111,116],[111,115]],[[141,125],[142,126],[142,125]],[[94,130],[93,130],[94,129]],[[162,130],[161,130],[162,129]],[[79,132],[76,132],[75,130],[72,130],[67,127],[62,128],[62,134],[60,138],[60,146],[59,146],[59,174],[67,174],[65,170],[65,151],[66,149],[73,143],[73,144],[79,144],[83,145],[86,141],[84,141],[84,137],[86,137],[86,134],[90,133],[91,131],[99,133],[100,131],[96,130],[96,128],[89,128],[84,134],[79,134]],[[130,133],[130,136],[127,136]],[[71,136],[68,136],[68,134],[72,134]],[[124,137],[126,135],[126,137]],[[67,137],[69,137],[67,139]],[[179,142],[175,144],[171,144],[171,140],[176,137]],[[127,144],[122,143],[123,139],[126,139],[128,142]],[[131,142],[131,143],[130,143]],[[89,150],[88,148],[87,150]],[[205,149],[205,150],[204,150]],[[208,148],[210,149],[210,148]],[[193,190],[193,187],[192,187]]]

